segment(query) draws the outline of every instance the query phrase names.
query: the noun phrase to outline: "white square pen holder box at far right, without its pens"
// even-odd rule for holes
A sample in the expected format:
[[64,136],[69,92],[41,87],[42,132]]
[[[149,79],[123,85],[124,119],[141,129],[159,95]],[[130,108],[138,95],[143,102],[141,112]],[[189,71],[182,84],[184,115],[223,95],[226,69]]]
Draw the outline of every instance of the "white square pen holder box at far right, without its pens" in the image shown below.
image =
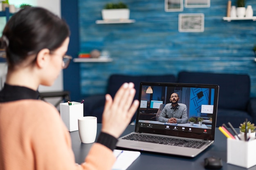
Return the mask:
[[227,139],[227,163],[250,168],[256,165],[256,140],[242,141]]

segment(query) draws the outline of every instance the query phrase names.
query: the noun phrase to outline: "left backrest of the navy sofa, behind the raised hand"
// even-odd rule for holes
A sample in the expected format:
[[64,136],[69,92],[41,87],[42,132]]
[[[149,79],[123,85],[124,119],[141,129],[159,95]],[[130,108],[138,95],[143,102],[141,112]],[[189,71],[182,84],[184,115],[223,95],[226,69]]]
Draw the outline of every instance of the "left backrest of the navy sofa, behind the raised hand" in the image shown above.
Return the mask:
[[140,82],[176,82],[175,75],[110,75],[108,80],[107,93],[112,97],[115,96],[117,90],[125,82],[133,82],[136,90],[134,99],[139,98],[139,84]]

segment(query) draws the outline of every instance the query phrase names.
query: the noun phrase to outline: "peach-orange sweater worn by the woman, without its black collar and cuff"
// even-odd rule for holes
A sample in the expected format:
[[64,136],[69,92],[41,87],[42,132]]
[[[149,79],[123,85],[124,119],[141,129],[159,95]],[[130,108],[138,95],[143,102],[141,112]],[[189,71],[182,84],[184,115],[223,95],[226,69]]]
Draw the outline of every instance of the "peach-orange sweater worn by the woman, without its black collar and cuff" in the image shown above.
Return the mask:
[[110,170],[112,150],[93,144],[77,165],[70,134],[58,110],[40,100],[0,103],[1,170]]

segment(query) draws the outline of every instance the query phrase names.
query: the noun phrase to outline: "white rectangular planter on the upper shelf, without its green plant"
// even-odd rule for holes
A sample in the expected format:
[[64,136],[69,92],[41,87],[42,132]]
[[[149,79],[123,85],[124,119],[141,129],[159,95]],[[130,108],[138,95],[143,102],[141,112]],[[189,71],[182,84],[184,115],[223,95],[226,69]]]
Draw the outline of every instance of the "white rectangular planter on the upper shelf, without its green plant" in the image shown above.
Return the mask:
[[128,20],[130,18],[130,9],[102,9],[103,20]]

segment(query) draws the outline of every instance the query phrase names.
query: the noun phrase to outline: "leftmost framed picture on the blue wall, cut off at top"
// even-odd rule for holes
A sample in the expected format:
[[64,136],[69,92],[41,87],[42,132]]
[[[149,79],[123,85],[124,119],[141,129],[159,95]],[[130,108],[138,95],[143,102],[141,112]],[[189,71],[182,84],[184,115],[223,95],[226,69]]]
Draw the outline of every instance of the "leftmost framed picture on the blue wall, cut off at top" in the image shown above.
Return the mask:
[[164,10],[166,12],[183,11],[183,0],[164,0]]

